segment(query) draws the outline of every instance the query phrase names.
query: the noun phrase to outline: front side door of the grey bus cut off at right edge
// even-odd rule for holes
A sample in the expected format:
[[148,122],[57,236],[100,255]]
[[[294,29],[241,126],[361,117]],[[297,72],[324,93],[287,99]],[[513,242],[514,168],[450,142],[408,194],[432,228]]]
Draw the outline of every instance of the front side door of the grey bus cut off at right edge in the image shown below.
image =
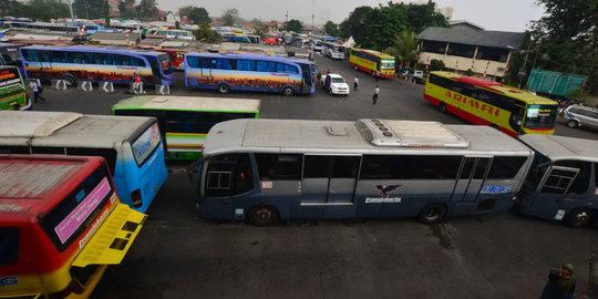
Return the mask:
[[[532,213],[537,216],[554,217],[563,220],[565,210],[558,209],[561,204],[579,197],[577,194],[568,194],[571,184],[579,174],[579,169],[564,166],[550,166],[540,181],[538,189],[534,195]],[[566,198],[568,197],[568,198]]]

